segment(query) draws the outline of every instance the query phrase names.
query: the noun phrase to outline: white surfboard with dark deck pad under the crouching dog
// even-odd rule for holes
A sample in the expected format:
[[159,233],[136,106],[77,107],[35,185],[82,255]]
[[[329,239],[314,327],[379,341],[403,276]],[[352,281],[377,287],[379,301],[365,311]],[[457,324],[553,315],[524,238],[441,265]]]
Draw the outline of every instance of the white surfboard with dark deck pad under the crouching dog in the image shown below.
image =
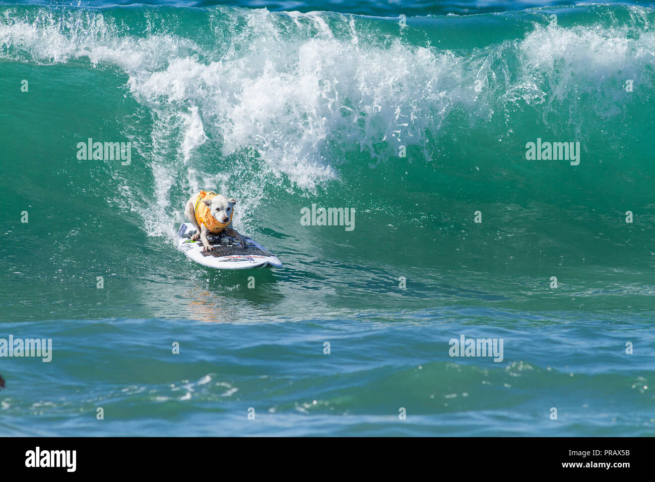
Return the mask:
[[214,250],[205,252],[202,251],[200,239],[191,241],[195,233],[196,227],[193,224],[183,222],[178,230],[178,249],[202,266],[219,270],[247,270],[265,266],[282,268],[282,262],[276,256],[250,237],[246,237],[248,245],[242,248],[233,237],[208,235],[207,241]]

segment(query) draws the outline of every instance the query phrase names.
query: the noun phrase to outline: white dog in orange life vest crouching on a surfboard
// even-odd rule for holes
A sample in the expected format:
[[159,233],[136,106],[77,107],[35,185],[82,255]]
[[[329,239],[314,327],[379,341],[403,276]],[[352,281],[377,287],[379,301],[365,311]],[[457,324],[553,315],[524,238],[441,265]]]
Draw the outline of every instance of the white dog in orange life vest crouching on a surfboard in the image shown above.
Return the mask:
[[235,237],[240,247],[245,248],[246,239],[232,227],[236,199],[227,199],[224,195],[213,191],[200,191],[191,196],[184,208],[184,214],[196,227],[196,233],[191,241],[198,237],[202,240],[202,251],[212,251],[214,247],[207,241],[207,235],[225,234]]

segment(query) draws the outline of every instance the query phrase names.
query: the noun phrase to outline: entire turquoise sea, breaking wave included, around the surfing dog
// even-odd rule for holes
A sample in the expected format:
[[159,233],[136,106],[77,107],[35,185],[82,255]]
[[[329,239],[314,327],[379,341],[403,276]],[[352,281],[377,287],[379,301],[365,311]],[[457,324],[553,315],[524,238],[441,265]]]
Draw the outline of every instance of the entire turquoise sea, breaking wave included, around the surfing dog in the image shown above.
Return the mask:
[[80,5],[0,4],[1,434],[655,435],[648,4]]

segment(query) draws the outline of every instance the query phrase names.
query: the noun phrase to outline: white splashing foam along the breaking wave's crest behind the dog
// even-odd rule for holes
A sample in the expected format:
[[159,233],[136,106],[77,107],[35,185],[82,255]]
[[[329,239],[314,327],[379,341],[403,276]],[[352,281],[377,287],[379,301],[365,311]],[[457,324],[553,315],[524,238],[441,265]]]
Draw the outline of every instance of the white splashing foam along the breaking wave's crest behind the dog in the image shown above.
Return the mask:
[[[627,28],[535,24],[523,38],[462,54],[407,45],[354,16],[227,8],[208,14],[217,38],[229,37],[213,45],[170,33],[165,22],[140,36],[106,13],[66,12],[1,18],[0,56],[88,59],[126,74],[132,95],[154,114],[143,155],[157,197],[130,202],[149,232],[169,235],[191,191],[237,197],[234,222],[247,225],[271,184],[286,179],[313,191],[353,150],[375,164],[414,146],[429,160],[428,134],[438,137],[455,106],[472,121],[512,103],[552,104],[554,112],[576,89],[643,76],[655,51],[648,31],[629,38]],[[479,79],[487,87],[476,92]],[[612,113],[610,102],[597,108]],[[184,195],[171,199],[173,188]]]

